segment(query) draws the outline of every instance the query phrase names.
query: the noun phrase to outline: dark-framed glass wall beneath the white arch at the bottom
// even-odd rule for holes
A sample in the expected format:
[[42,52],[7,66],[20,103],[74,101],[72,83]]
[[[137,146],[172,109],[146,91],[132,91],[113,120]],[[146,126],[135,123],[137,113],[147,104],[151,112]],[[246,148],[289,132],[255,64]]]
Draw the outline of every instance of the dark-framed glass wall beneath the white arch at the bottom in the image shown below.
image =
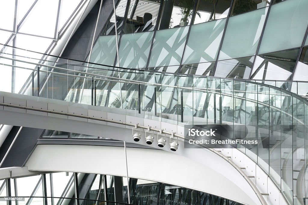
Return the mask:
[[[129,190],[128,193],[128,183]],[[78,184],[78,186],[76,186]],[[0,180],[0,204],[241,205],[201,191],[144,179],[57,172]],[[18,201],[6,200],[17,197]]]

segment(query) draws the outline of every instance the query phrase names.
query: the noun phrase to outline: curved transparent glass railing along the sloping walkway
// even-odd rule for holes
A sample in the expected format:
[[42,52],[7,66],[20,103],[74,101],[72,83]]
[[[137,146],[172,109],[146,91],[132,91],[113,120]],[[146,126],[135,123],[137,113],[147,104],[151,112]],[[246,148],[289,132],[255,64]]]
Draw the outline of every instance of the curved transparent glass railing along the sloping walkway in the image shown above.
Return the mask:
[[[268,174],[288,203],[300,204],[308,197],[304,183],[308,180],[308,104],[298,95],[306,95],[303,90],[308,82],[260,83],[108,67],[45,54],[31,58],[33,55],[30,51],[20,56],[1,53],[2,70],[14,67],[26,73],[17,93],[180,126],[245,125],[241,139],[258,143],[237,149]],[[15,84],[17,76],[15,73]],[[14,89],[4,91],[10,90]],[[232,129],[232,133],[228,138],[236,139],[237,132]]]

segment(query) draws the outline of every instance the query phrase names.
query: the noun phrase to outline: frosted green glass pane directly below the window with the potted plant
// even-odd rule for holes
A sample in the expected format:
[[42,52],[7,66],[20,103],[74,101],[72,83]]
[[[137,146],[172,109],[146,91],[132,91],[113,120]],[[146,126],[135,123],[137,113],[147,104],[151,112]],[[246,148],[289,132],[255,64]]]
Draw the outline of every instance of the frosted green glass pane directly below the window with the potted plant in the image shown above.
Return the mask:
[[148,67],[180,65],[188,26],[157,31]]

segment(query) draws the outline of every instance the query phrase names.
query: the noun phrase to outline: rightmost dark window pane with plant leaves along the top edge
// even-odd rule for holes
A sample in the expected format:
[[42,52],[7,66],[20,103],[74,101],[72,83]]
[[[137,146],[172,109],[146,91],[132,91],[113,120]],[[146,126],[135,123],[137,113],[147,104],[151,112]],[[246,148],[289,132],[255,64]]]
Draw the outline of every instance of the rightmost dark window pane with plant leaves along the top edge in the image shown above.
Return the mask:
[[269,1],[235,0],[231,15],[233,16],[256,9],[261,9],[263,7],[269,6],[270,2],[271,0]]

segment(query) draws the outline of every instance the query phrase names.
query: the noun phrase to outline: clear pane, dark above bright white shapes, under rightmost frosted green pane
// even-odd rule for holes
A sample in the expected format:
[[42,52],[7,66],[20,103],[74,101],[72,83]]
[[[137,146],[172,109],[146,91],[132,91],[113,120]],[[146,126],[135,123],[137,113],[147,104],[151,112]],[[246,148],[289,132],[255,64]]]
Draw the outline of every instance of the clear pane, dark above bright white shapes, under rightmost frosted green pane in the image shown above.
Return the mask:
[[259,55],[253,66],[251,79],[290,80],[299,48]]

